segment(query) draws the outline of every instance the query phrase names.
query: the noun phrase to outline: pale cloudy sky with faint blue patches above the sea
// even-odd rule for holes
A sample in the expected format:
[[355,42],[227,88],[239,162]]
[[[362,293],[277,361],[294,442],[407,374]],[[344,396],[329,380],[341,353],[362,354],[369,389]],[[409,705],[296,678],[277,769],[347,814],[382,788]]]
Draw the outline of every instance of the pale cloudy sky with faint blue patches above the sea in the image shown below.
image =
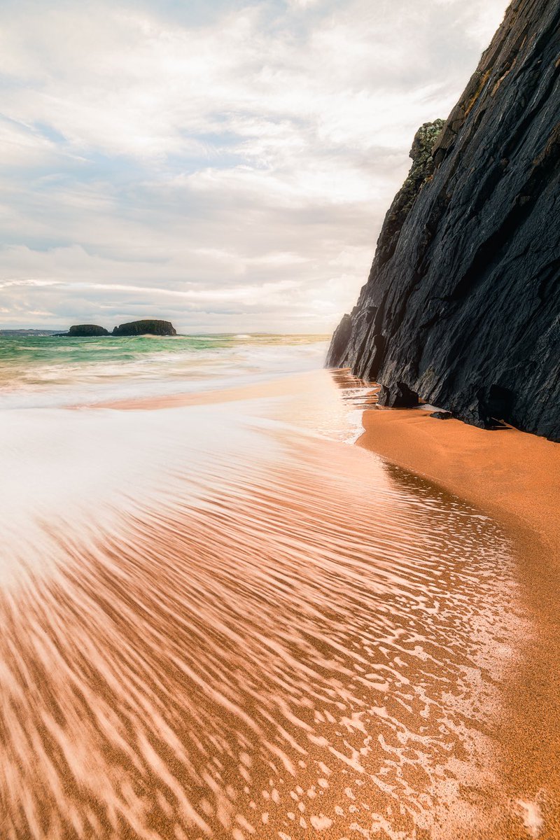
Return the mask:
[[0,327],[327,333],[506,0],[3,0]]

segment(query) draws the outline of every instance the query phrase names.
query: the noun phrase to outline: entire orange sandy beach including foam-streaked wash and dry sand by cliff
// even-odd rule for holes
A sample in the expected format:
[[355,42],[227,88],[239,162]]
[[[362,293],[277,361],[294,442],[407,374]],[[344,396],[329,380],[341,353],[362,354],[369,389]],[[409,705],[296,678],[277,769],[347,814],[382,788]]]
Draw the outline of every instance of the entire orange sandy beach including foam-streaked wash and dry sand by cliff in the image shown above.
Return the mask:
[[1,412],[3,835],[554,837],[553,444],[172,386]]

